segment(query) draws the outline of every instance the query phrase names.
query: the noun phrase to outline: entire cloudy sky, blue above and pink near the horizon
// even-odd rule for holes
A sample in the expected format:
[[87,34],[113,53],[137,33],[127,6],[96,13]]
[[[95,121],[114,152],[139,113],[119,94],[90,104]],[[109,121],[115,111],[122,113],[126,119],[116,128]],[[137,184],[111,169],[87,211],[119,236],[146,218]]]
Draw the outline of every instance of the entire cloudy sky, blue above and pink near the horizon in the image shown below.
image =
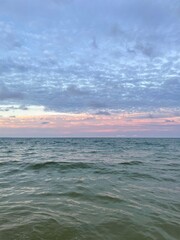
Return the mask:
[[180,137],[179,0],[0,0],[0,137]]

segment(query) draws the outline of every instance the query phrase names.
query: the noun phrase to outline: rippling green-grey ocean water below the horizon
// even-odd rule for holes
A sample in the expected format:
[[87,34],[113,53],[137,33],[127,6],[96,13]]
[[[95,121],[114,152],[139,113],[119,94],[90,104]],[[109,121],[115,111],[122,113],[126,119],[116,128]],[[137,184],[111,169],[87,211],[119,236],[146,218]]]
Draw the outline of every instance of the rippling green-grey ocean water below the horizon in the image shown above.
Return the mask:
[[0,240],[180,239],[180,139],[0,139]]

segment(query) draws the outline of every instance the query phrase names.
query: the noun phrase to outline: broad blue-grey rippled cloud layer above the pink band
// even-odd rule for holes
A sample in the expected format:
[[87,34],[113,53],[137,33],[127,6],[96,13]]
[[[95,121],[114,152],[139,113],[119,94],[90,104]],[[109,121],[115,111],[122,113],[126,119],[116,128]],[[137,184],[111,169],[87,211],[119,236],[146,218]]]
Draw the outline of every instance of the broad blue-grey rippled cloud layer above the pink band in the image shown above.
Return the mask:
[[179,1],[7,0],[0,9],[6,104],[97,115],[180,108]]

